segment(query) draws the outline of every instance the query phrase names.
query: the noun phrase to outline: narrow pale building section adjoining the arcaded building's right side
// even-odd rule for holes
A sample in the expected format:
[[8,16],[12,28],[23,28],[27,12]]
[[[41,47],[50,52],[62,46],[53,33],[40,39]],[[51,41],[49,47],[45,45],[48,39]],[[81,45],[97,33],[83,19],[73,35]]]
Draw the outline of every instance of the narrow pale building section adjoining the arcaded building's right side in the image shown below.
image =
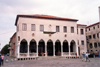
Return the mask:
[[[78,49],[79,49],[79,55],[82,55],[83,52],[87,51],[87,46],[86,46],[86,29],[87,25],[82,25],[82,24],[77,24],[77,35],[78,35]],[[85,51],[86,50],[86,51]]]

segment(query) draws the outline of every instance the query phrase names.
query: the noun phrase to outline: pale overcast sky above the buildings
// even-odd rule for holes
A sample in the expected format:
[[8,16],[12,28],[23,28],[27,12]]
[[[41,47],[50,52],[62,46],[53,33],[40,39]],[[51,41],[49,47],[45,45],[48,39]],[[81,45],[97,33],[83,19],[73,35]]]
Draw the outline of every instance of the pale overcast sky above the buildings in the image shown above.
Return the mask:
[[100,0],[0,0],[0,48],[16,31],[17,14],[44,14],[78,19],[90,25],[99,21]]

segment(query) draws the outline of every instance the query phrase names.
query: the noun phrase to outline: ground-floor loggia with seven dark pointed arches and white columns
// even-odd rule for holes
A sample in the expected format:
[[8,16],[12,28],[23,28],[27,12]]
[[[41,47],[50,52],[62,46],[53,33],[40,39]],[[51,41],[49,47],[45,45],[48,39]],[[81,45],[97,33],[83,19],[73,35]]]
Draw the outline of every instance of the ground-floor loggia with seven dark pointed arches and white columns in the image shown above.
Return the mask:
[[43,39],[36,42],[32,39],[30,42],[27,42],[26,39],[23,39],[18,46],[18,57],[38,57],[38,56],[75,56],[77,52],[78,55],[78,46],[76,42],[72,40],[68,42],[64,40],[48,40],[45,42]]

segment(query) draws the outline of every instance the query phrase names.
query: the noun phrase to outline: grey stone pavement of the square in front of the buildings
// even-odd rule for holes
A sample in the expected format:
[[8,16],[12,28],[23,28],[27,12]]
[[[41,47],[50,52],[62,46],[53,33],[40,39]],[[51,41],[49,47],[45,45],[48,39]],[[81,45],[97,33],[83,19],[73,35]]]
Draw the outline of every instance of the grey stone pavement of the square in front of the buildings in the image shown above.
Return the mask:
[[[11,58],[9,58],[11,59]],[[34,60],[8,61],[1,67],[100,67],[100,58],[90,58],[90,62],[81,59],[43,58]]]

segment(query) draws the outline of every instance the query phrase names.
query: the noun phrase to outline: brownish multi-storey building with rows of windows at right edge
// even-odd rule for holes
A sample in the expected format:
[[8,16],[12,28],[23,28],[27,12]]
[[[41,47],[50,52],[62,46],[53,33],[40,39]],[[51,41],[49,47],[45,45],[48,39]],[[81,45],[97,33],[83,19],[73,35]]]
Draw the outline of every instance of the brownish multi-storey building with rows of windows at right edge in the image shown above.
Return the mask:
[[100,22],[86,27],[86,38],[88,52],[100,52]]

